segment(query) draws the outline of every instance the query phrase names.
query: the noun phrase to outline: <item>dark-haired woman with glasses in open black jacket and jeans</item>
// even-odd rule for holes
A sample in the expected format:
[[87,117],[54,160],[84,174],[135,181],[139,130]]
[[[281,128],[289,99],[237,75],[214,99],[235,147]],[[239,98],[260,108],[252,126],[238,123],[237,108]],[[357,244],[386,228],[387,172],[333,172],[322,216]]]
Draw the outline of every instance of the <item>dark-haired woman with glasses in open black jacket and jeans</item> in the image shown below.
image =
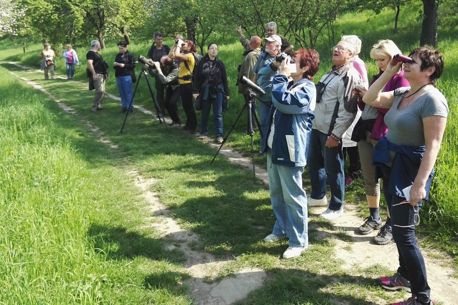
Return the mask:
[[[215,136],[218,144],[223,143],[223,100],[229,100],[229,84],[223,62],[216,58],[218,45],[210,43],[207,55],[199,62],[193,82],[194,98],[201,94],[202,117],[199,139],[207,138],[208,117],[213,105]],[[224,102],[226,102],[224,101]],[[226,110],[226,109],[224,109]]]

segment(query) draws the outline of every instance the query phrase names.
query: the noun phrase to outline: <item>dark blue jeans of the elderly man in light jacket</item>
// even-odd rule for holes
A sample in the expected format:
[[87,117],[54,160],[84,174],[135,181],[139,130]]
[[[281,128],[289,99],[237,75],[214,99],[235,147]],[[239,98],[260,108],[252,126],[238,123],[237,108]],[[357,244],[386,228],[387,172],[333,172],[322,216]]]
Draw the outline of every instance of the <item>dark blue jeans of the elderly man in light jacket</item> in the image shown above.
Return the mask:
[[310,133],[310,147],[307,155],[309,166],[310,184],[312,192],[310,197],[321,199],[326,196],[326,176],[331,189],[329,209],[338,211],[344,206],[345,174],[344,154],[342,141],[338,146],[326,147],[327,134],[312,129]]

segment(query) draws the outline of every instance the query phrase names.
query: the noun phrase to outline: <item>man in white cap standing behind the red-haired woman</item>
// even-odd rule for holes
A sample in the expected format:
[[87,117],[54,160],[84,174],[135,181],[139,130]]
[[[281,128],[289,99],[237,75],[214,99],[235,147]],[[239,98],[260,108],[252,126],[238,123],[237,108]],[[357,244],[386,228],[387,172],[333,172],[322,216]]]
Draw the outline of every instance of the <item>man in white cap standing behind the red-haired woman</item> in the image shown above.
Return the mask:
[[[259,96],[259,123],[261,124],[261,130],[264,130],[267,126],[268,116],[270,107],[272,105],[272,80],[273,76],[278,73],[277,68],[273,69],[270,64],[276,59],[277,55],[280,55],[280,48],[282,41],[280,36],[272,35],[264,38],[265,51],[262,53],[255,66],[253,67],[253,83],[257,84],[266,92],[266,94]],[[264,140],[261,138],[261,147]]]

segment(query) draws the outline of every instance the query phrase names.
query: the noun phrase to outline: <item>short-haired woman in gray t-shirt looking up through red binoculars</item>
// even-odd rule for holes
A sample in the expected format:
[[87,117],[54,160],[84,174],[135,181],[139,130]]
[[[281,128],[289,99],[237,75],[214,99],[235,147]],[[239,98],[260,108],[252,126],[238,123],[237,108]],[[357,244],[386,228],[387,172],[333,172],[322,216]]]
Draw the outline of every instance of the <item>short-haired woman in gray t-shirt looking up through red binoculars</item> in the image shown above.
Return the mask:
[[[442,93],[435,88],[436,80],[442,75],[444,59],[442,53],[427,47],[416,48],[404,64],[404,77],[409,80],[410,88],[382,92],[383,86],[399,70],[402,62],[390,61],[385,72],[365,92],[363,101],[374,107],[389,108],[385,115],[388,127],[386,139],[397,145],[412,148],[425,147],[420,166],[412,164],[402,168],[391,167],[394,156],[389,151],[389,162],[382,167],[384,174],[384,194],[392,217],[393,239],[399,253],[398,272],[391,277],[379,279],[387,289],[405,289],[412,292],[406,303],[411,305],[432,304],[430,287],[426,280],[425,261],[415,239],[415,225],[422,200],[427,197],[426,182],[436,162],[441,147],[442,136],[447,123],[448,105]],[[404,146],[404,148],[408,148]],[[408,148],[409,149],[409,148]],[[399,154],[399,152],[398,152]],[[404,175],[413,179],[413,184],[403,189],[404,197],[392,195],[394,190],[387,189],[393,175]],[[404,177],[404,176],[403,176]],[[404,187],[404,186],[403,186]],[[402,189],[403,187],[395,188]],[[393,305],[404,303],[393,303]]]

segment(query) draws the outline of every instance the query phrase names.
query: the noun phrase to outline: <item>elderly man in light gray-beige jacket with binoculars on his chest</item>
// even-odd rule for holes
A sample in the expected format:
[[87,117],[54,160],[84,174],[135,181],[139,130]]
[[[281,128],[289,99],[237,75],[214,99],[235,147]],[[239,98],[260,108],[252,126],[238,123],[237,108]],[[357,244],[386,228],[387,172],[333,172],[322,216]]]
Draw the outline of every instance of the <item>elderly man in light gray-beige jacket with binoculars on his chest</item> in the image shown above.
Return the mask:
[[307,156],[311,195],[308,206],[327,206],[326,177],[331,189],[329,207],[320,216],[336,219],[344,214],[344,155],[342,138],[353,122],[358,99],[354,85],[362,84],[353,67],[354,45],[340,41],[333,48],[333,67],[316,85],[315,118]]

